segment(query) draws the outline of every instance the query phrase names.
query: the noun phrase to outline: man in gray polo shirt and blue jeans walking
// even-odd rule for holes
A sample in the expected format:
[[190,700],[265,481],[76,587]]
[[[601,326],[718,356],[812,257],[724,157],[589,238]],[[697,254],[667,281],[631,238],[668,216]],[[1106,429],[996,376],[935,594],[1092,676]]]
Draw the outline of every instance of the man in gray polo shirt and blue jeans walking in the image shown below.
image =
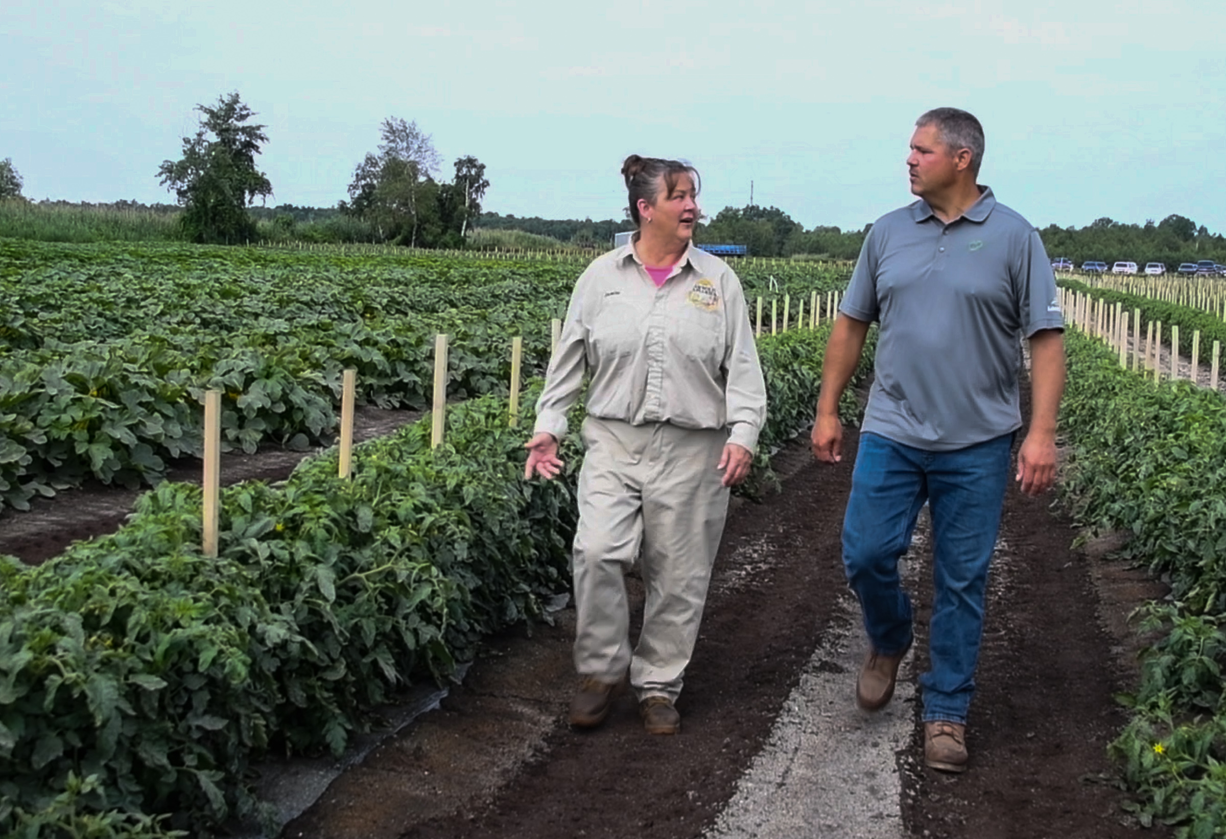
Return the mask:
[[966,715],[983,629],[988,563],[1021,427],[1021,339],[1030,341],[1031,418],[1018,454],[1021,491],[1056,477],[1064,320],[1038,233],[976,183],[983,129],[956,108],[916,121],[907,169],[918,201],[864,239],[826,347],[813,451],[840,460],[839,396],[875,320],[875,378],[843,520],[843,564],[872,649],[856,683],[867,710],[894,694],[911,648],[911,601],[897,561],[924,502],[934,538],[924,762],[962,772]]

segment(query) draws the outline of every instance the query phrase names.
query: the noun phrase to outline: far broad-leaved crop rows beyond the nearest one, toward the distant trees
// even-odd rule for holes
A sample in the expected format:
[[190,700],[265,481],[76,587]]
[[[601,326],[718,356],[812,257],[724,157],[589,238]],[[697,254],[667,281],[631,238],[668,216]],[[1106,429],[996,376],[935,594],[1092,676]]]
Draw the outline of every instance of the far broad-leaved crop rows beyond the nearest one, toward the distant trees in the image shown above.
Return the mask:
[[[360,321],[508,303],[564,308],[576,259],[284,251],[190,245],[63,245],[0,239],[0,358],[47,341],[152,332],[244,331],[267,321]],[[825,293],[845,269],[763,262],[742,269],[753,298]],[[794,301],[794,302],[798,302]]]

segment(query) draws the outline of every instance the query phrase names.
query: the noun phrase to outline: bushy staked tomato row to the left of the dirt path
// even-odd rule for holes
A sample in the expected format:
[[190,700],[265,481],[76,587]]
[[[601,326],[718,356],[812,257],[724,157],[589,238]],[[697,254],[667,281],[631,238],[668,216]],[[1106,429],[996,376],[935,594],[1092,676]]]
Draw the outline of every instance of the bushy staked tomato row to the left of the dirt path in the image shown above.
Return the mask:
[[[828,335],[759,342],[764,448],[812,416]],[[485,396],[449,410],[438,449],[428,418],[358,446],[352,481],[326,453],[282,486],[227,488],[217,559],[200,552],[199,488],[163,483],[112,536],[0,562],[0,834],[259,816],[253,760],[338,752],[411,678],[541,617],[569,588],[581,451],[570,438],[562,480],[524,482],[527,429],[506,421]]]

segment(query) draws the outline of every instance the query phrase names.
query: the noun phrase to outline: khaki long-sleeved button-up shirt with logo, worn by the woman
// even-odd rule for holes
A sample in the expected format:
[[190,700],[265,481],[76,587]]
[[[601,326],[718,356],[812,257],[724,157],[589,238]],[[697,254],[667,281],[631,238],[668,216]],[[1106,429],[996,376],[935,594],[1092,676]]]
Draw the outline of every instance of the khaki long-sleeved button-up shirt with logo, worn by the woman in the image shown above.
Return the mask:
[[729,443],[758,445],[766,384],[745,296],[723,260],[693,245],[660,288],[633,244],[587,266],[549,362],[536,432],[565,435],[587,372],[593,417],[727,428]]

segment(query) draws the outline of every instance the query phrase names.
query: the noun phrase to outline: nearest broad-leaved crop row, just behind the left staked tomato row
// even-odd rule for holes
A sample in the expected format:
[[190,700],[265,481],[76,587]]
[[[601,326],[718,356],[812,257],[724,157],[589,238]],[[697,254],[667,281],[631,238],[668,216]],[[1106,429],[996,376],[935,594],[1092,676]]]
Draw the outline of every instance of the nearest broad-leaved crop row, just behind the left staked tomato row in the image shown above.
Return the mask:
[[264,440],[304,449],[330,433],[347,367],[362,402],[425,408],[439,332],[452,342],[450,396],[505,393],[512,335],[525,337],[526,369],[548,361],[548,314],[509,305],[27,351],[0,364],[0,507],[23,509],[87,477],[156,483],[169,459],[199,456],[208,389],[224,393],[226,445],[245,451]]

